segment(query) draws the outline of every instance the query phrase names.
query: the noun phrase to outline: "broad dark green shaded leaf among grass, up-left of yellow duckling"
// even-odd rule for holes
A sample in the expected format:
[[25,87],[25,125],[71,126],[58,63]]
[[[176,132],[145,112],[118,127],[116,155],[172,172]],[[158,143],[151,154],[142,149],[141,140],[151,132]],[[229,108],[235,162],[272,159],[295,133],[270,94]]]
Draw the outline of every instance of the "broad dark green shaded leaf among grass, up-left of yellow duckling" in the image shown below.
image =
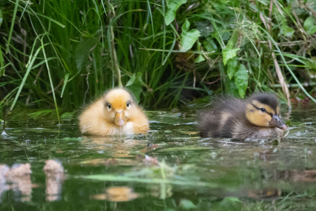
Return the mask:
[[88,53],[91,48],[98,44],[98,40],[90,36],[82,36],[80,43],[75,50],[75,60],[78,71],[82,69],[84,62],[88,59]]

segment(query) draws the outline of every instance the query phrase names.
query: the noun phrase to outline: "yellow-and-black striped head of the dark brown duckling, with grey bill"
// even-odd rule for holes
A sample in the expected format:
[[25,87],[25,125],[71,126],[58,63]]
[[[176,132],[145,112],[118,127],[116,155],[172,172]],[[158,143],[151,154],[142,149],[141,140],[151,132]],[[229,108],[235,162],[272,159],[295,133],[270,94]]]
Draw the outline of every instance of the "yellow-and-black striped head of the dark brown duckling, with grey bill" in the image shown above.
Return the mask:
[[246,103],[246,118],[254,125],[287,129],[281,120],[280,104],[271,93],[257,93],[249,97]]

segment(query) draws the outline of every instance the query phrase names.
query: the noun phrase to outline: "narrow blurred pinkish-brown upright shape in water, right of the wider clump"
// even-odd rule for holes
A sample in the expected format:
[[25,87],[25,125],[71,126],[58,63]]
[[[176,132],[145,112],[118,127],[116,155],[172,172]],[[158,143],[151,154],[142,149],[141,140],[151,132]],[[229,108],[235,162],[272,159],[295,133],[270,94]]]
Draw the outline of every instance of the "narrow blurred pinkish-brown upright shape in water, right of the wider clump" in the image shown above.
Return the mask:
[[64,167],[58,161],[46,160],[43,170],[46,175],[46,201],[60,200],[64,181]]

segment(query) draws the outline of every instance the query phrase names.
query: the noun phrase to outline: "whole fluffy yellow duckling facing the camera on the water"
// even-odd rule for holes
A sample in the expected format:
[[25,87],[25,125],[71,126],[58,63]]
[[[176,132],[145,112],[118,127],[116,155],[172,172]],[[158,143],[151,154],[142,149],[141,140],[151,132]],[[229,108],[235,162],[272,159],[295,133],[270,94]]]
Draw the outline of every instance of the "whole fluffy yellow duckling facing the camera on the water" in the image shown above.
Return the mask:
[[109,90],[79,116],[82,133],[91,135],[122,135],[147,133],[148,119],[141,107],[125,89]]

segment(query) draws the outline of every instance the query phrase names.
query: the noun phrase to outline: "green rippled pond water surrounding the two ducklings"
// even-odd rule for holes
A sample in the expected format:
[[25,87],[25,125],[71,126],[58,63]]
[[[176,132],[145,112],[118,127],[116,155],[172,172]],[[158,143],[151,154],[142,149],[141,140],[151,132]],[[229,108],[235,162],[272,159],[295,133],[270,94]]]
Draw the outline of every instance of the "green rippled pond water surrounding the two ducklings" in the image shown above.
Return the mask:
[[315,108],[283,108],[281,142],[202,139],[191,108],[149,111],[151,131],[125,137],[83,136],[71,115],[11,120],[0,210],[310,210]]

